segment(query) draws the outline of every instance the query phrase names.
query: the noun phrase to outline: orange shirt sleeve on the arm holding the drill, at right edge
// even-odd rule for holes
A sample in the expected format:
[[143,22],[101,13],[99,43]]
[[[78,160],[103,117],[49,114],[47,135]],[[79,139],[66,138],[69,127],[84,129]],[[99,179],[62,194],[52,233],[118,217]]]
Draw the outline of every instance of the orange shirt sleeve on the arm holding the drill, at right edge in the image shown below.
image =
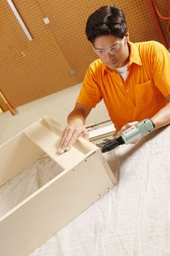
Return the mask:
[[170,53],[158,42],[153,51],[153,80],[165,97],[170,95]]

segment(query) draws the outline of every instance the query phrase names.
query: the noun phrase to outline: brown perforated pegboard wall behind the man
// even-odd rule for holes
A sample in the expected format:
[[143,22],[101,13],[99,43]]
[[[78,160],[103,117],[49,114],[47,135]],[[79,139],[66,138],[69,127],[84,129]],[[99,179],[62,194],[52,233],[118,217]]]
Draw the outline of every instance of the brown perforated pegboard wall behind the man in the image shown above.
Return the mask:
[[[97,56],[86,40],[89,14],[106,0],[13,0],[33,40],[29,41],[6,0],[0,1],[0,90],[13,107],[76,85]],[[156,26],[146,0],[115,0],[125,11],[130,40],[158,40]],[[168,16],[169,0],[156,0],[163,16]],[[44,18],[50,24],[46,25]],[[166,20],[160,20],[166,34]],[[170,48],[170,43],[169,43]],[[0,100],[0,106],[6,106]]]

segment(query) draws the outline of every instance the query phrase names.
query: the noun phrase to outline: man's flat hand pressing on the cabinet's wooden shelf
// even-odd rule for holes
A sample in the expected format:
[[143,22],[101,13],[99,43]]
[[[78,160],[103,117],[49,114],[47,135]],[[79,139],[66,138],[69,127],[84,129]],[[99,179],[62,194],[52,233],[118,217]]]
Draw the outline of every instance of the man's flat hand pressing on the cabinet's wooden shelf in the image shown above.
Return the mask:
[[66,128],[63,130],[63,135],[61,137],[60,144],[58,146],[58,153],[64,153],[71,149],[72,145],[79,136],[84,137],[86,140],[89,140],[89,134],[82,124],[82,121],[72,121]]

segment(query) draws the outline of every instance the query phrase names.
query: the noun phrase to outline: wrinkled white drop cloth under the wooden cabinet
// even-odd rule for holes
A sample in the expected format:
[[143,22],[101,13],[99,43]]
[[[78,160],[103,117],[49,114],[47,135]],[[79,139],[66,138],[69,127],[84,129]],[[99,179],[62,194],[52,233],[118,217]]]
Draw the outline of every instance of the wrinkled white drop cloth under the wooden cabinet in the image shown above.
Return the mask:
[[[170,255],[170,126],[104,155],[119,175],[117,187],[30,256]],[[6,198],[16,204],[57,175],[53,164],[42,159],[1,187],[5,210]]]

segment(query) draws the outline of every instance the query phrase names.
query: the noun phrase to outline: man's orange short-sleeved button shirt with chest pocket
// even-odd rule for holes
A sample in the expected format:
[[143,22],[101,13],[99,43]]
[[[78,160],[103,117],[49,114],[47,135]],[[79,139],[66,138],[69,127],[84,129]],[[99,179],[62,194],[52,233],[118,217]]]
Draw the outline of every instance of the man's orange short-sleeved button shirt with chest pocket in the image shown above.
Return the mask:
[[156,41],[130,43],[128,77],[100,59],[86,71],[77,103],[94,108],[102,99],[110,119],[119,130],[130,121],[151,118],[166,106],[170,95],[170,54]]

